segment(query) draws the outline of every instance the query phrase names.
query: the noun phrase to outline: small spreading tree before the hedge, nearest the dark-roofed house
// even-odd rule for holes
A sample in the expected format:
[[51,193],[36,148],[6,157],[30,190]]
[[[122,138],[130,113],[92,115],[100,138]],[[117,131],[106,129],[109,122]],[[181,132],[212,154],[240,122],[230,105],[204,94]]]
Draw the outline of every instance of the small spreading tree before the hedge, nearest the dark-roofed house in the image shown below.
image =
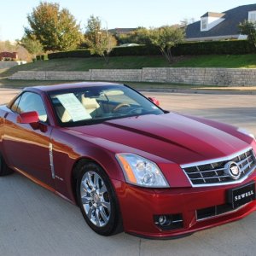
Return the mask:
[[172,62],[172,47],[184,41],[184,29],[180,26],[161,26],[150,30],[151,44],[160,48],[162,55]]

